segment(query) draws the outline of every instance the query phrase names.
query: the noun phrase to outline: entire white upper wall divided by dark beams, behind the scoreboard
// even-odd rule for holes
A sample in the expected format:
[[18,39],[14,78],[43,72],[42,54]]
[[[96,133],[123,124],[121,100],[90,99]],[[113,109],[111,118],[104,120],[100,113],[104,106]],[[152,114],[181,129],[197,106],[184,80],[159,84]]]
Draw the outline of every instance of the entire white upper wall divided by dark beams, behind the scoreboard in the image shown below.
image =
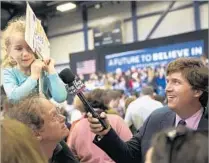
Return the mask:
[[[137,2],[137,15],[144,15],[151,12],[165,11],[170,2]],[[177,1],[173,8],[192,4],[191,1]],[[105,5],[100,9],[91,8],[88,10],[88,27],[93,28],[99,24],[107,23],[109,18],[115,20],[124,20],[131,17],[130,2],[124,1],[120,4]],[[200,6],[201,28],[208,28],[208,4]],[[144,40],[154,24],[160,18],[160,15],[140,18],[137,20],[138,40]],[[49,19],[48,35],[54,36],[60,33],[66,33],[83,28],[81,12],[73,11],[61,17]],[[133,42],[132,21],[122,23],[123,43]],[[195,30],[194,8],[181,9],[169,12],[163,19],[159,27],[153,33],[151,38],[165,37]],[[84,51],[83,32],[68,34],[65,36],[53,37],[50,39],[51,56],[57,63],[66,63],[69,61],[68,54]],[[88,49],[94,49],[93,31],[88,30]]]

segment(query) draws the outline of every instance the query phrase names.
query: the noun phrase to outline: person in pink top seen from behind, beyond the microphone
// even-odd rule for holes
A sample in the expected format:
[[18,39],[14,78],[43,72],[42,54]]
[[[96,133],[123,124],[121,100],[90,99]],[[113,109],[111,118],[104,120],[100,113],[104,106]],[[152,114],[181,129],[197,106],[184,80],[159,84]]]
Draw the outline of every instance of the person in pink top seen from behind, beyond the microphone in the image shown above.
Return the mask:
[[[92,96],[93,95],[93,96]],[[101,100],[101,90],[96,89],[88,95],[85,94],[87,100],[91,103],[98,112],[108,112],[108,107]],[[72,124],[67,144],[72,149],[73,153],[82,163],[110,163],[114,162],[104,151],[97,147],[92,141],[95,134],[91,132],[87,118],[85,117],[84,105],[79,103],[76,97],[76,108],[84,115],[76,123]],[[115,129],[119,137],[127,141],[132,137],[131,131],[125,124],[123,119],[116,114],[107,114],[112,128]]]

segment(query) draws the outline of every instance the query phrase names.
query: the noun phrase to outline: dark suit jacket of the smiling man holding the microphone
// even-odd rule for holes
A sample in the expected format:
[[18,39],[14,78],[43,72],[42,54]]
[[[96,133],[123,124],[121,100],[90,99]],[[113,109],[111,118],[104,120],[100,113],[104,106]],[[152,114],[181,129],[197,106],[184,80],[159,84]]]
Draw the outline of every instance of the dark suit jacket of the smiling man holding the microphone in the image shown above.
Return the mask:
[[[167,107],[155,110],[139,132],[128,142],[123,142],[113,129],[94,143],[117,163],[142,163],[156,132],[174,127],[176,113]],[[208,120],[202,116],[198,129],[208,129]]]

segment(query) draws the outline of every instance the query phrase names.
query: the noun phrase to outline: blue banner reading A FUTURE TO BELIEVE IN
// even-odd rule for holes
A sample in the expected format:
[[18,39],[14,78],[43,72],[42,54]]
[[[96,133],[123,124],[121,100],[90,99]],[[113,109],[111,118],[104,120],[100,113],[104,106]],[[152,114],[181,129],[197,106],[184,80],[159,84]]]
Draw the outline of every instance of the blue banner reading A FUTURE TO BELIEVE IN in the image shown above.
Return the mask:
[[127,71],[131,67],[141,68],[167,64],[179,57],[200,57],[204,53],[204,41],[191,41],[154,48],[127,51],[105,56],[106,72],[117,68]]

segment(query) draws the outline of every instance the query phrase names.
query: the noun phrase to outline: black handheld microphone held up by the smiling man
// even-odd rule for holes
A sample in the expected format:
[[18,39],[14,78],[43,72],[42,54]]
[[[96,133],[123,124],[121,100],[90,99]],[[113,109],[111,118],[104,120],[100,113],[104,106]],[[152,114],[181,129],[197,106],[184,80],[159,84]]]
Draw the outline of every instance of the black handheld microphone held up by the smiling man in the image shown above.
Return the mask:
[[84,108],[86,112],[90,112],[94,118],[97,118],[99,120],[103,127],[103,130],[107,129],[108,126],[104,119],[100,118],[99,114],[93,109],[93,107],[90,105],[90,103],[87,101],[84,94],[82,93],[82,90],[85,88],[85,85],[82,83],[82,81],[77,76],[75,76],[69,68],[65,68],[64,70],[62,70],[59,73],[59,76],[62,81],[68,85],[68,92],[79,97],[79,99],[85,106]]

